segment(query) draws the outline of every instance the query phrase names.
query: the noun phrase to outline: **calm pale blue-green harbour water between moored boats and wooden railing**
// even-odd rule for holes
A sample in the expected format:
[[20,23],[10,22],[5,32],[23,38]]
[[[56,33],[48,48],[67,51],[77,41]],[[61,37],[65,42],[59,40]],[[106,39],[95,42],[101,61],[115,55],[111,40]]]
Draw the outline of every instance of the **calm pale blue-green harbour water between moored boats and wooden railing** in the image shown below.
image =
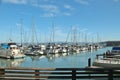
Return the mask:
[[96,54],[101,54],[110,47],[97,51],[56,54],[48,56],[26,56],[24,59],[0,59],[0,67],[29,67],[29,68],[82,68],[87,66],[88,58],[95,59]]

